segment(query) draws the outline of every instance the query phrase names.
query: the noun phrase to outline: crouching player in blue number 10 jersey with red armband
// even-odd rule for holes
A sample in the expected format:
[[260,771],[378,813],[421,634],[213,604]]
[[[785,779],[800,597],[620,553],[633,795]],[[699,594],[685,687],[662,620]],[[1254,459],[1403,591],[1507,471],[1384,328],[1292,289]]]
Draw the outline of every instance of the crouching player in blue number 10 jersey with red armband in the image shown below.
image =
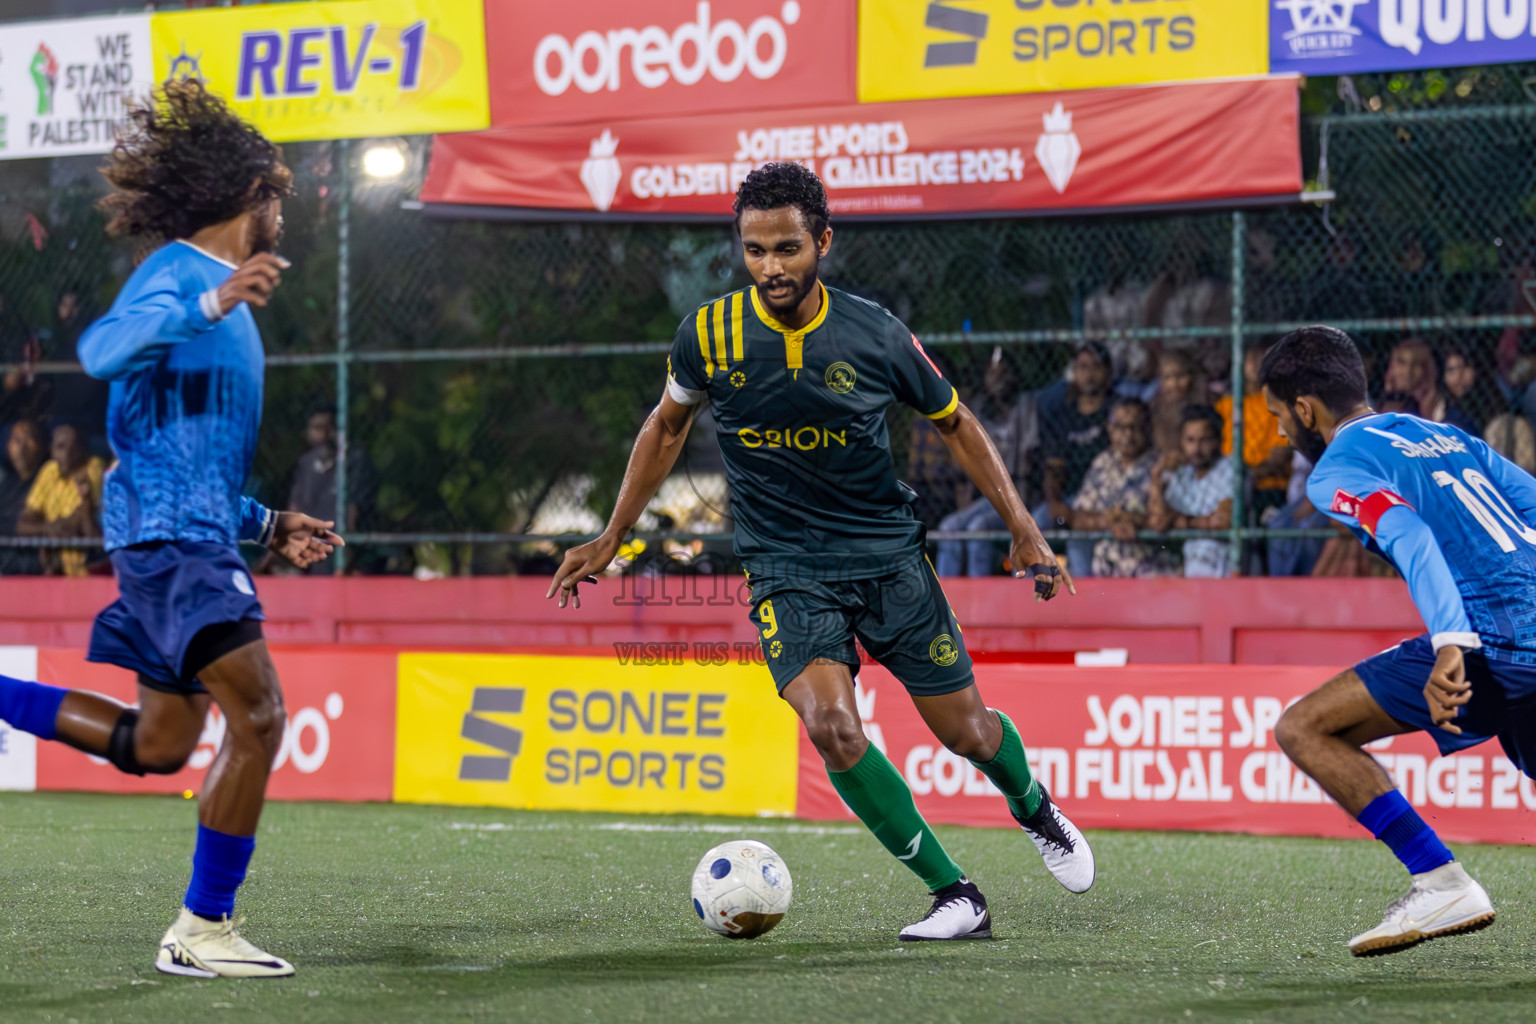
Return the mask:
[[1290,760],[1413,877],[1350,952],[1487,927],[1482,886],[1361,748],[1425,731],[1453,754],[1498,737],[1536,774],[1536,481],[1456,427],[1373,411],[1359,350],[1341,330],[1287,335],[1261,381],[1290,444],[1316,464],[1312,504],[1396,567],[1428,629],[1303,697],[1275,729]]

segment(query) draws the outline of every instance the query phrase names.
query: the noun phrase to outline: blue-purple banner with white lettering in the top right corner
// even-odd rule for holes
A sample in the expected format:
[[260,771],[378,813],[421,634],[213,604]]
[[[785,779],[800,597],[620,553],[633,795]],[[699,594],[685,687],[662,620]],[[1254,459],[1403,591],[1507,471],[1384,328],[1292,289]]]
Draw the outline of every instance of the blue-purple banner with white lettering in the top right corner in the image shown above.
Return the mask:
[[1269,0],[1270,68],[1307,75],[1536,60],[1530,0]]

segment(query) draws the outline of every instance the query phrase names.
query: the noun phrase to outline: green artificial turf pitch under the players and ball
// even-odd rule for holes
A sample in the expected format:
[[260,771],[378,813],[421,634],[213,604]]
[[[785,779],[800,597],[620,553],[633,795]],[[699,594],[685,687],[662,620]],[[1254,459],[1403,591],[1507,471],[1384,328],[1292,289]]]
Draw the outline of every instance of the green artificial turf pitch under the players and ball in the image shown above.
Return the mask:
[[[1491,929],[1353,960],[1349,936],[1407,883],[1373,843],[1097,832],[1098,884],[1072,897],[1023,834],[942,827],[997,938],[905,944],[926,894],[854,826],[273,804],[240,912],[300,973],[230,983],[152,967],[192,835],[190,801],[0,794],[0,1019],[1536,1018],[1536,849],[1461,849]],[[794,875],[756,941],[705,932],[688,903],[733,837]]]

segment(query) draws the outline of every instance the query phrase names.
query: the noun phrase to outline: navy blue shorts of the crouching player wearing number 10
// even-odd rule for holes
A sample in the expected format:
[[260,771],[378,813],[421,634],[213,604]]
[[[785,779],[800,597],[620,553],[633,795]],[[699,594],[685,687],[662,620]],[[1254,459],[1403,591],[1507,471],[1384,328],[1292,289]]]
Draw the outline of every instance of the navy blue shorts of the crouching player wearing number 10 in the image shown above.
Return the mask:
[[1441,754],[1498,737],[1508,758],[1536,778],[1536,666],[1488,659],[1481,651],[1467,651],[1465,663],[1471,700],[1456,717],[1461,735],[1430,720],[1424,685],[1435,668],[1435,648],[1427,634],[1366,659],[1355,666],[1355,674],[1382,711],[1428,732]]

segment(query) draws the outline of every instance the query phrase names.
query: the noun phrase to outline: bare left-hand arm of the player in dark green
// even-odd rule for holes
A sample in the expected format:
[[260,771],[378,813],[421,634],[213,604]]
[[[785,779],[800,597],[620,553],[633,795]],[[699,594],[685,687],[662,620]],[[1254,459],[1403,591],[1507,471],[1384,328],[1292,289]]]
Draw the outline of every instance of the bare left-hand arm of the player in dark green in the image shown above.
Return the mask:
[[624,543],[624,536],[639,522],[641,513],[656,497],[656,488],[677,464],[684,441],[688,439],[691,416],[693,410],[688,405],[680,404],[670,393],[662,395],[660,404],[651,410],[634,439],[634,450],[630,451],[630,465],[624,470],[619,500],[613,505],[608,528],[596,540],[588,540],[565,553],[565,560],[561,562],[559,571],[550,580],[550,593],[545,597],[554,597],[559,591],[561,608],[567,602],[581,608],[576,585],[596,582],[596,574],[613,562],[619,545]]

